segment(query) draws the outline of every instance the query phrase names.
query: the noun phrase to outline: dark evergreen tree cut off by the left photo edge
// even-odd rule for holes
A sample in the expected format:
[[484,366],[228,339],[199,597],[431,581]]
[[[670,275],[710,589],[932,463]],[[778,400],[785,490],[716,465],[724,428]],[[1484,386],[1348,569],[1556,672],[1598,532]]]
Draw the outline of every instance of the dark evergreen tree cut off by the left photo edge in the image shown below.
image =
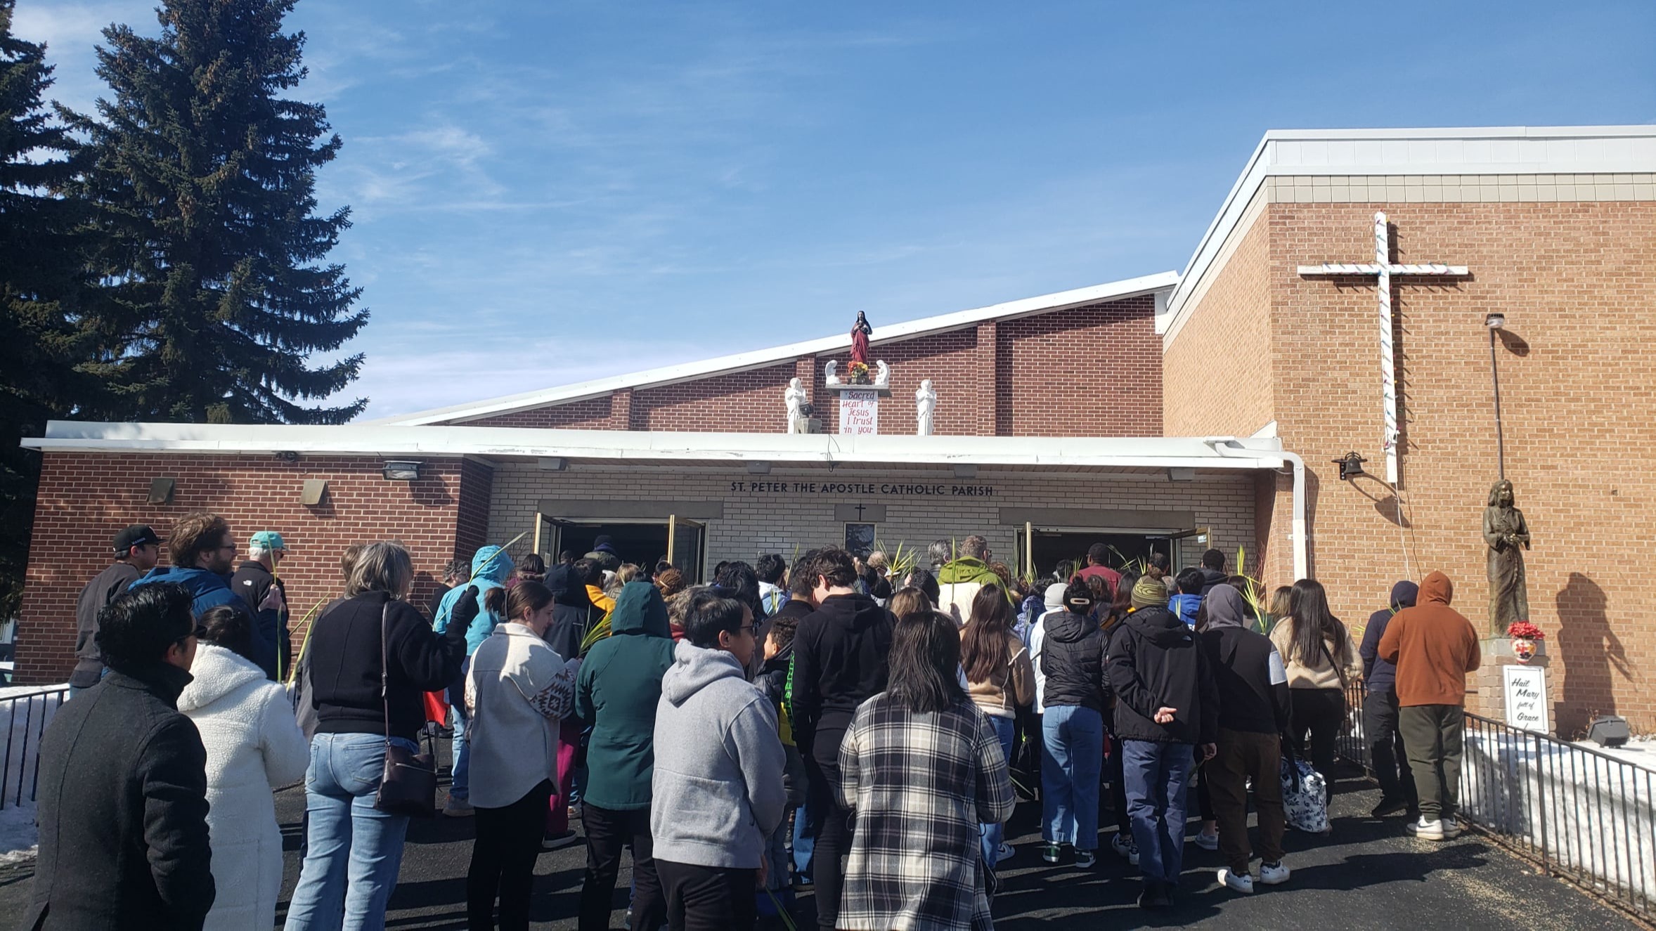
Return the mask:
[[40,454],[18,441],[50,417],[101,414],[98,381],[76,369],[93,353],[76,204],[53,195],[75,144],[41,99],[45,48],[12,35],[12,8],[0,0],[0,620],[22,598],[40,479]]

